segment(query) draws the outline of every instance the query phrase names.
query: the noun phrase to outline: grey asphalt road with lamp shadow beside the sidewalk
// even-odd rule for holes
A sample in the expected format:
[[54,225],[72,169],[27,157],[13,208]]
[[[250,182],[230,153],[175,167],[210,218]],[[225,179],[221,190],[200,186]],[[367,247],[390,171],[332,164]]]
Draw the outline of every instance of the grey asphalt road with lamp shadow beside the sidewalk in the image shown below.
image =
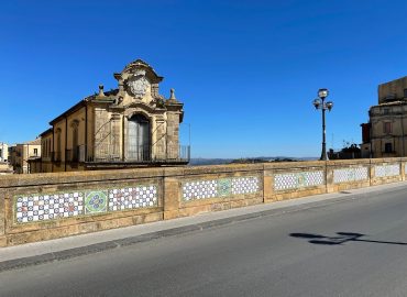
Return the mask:
[[407,296],[407,187],[2,272],[0,296]]

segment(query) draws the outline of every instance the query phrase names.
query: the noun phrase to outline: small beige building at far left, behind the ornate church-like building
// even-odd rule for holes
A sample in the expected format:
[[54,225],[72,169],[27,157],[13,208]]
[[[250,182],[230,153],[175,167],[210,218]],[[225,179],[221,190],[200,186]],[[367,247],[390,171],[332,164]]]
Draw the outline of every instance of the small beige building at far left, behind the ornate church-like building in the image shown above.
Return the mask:
[[41,139],[19,143],[9,147],[10,165],[16,174],[29,174],[36,172],[31,164],[41,160]]

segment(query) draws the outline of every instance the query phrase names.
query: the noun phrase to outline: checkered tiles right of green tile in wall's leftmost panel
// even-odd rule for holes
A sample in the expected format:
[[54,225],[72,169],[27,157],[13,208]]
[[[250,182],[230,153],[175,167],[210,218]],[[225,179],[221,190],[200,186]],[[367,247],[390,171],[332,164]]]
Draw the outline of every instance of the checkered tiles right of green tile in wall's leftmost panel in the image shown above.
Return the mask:
[[109,210],[118,211],[158,205],[157,186],[136,186],[109,190]]

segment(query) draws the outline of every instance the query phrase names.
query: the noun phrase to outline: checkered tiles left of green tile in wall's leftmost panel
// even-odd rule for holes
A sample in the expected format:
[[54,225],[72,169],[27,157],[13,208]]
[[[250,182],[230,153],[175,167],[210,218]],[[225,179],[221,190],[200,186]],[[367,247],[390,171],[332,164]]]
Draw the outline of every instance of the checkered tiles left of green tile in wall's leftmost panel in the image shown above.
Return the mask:
[[84,212],[84,193],[29,195],[15,198],[19,223],[72,218]]

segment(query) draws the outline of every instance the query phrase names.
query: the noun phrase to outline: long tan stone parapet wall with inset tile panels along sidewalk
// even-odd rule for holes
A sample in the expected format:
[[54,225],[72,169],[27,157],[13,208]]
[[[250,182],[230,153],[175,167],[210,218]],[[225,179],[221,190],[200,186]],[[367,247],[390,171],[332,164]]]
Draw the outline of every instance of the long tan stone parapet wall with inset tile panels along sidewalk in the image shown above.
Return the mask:
[[407,158],[0,176],[0,246],[405,180]]

